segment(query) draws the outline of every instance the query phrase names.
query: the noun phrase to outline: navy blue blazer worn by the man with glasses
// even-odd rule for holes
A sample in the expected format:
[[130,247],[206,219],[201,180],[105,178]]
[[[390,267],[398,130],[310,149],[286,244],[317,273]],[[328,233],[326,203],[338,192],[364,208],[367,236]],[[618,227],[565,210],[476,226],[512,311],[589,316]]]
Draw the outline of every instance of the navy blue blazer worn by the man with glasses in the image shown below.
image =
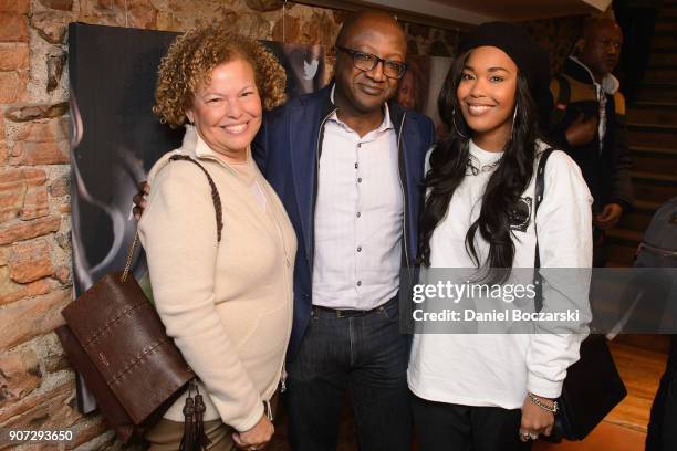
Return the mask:
[[[331,102],[331,88],[330,84],[265,114],[252,143],[257,165],[282,200],[299,241],[288,358],[293,358],[299,349],[312,306],[317,166],[324,123],[336,109]],[[413,271],[418,247],[418,214],[424,199],[424,160],[435,141],[435,127],[428,117],[395,103],[388,103],[388,109],[397,133],[399,178],[405,199],[403,269]]]

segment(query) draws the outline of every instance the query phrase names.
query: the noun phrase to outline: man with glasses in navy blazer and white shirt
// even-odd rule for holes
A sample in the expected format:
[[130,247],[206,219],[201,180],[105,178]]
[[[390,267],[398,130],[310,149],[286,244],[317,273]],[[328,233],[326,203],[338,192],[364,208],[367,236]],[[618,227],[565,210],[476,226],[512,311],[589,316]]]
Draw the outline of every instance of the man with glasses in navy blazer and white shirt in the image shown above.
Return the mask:
[[363,451],[410,449],[399,274],[414,271],[429,118],[389,102],[406,71],[395,19],[363,11],[335,78],[264,118],[254,158],[299,239],[283,384],[295,451],[336,449],[346,391]]

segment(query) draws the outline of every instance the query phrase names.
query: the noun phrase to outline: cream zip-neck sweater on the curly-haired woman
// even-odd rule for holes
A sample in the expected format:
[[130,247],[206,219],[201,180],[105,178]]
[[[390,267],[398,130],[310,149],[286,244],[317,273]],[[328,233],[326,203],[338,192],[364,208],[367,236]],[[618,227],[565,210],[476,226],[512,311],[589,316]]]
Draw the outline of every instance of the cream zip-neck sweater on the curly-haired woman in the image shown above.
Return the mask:
[[[148,207],[138,223],[157,312],[201,380],[205,420],[251,429],[274,394],[292,322],[296,239],[275,192],[254,166],[265,208],[244,178],[186,127],[183,146],[150,170]],[[211,175],[223,206],[217,245]],[[184,421],[179,398],[165,418]]]

